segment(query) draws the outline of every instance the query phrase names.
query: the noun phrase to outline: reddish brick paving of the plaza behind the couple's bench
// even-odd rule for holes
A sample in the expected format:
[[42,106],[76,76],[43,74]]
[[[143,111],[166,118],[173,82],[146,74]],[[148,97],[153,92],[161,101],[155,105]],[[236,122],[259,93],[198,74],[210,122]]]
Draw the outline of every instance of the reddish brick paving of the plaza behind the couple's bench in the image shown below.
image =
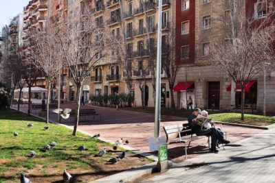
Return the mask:
[[[63,103],[61,104],[61,108],[75,108],[75,104]],[[142,151],[149,150],[148,138],[154,134],[154,117],[152,114],[142,114],[139,112],[115,110],[112,108],[102,108],[89,105],[81,106],[80,109],[81,108],[96,109],[97,113],[102,114],[102,121],[99,121],[99,117],[96,117],[96,121],[80,122],[78,127],[79,130],[83,130],[91,134],[100,133],[100,136],[111,139],[113,141],[116,141],[118,138],[124,138],[124,140],[128,139],[130,142],[129,146],[135,147],[136,149],[140,149]],[[26,111],[27,109],[21,108],[21,110]],[[36,114],[37,113],[38,112],[36,112]],[[50,119],[56,121],[56,114],[51,112]],[[85,117],[85,119],[92,119],[92,117]],[[69,121],[62,121],[62,123],[66,123],[67,125],[73,125],[73,122],[74,118],[70,118]],[[164,132],[162,130],[164,125],[173,125],[178,123],[187,123],[187,121],[179,121],[169,117],[162,118],[161,136],[164,136]],[[230,125],[223,125],[223,131],[227,132],[228,140],[231,143],[263,132],[263,130],[247,127],[235,127]],[[188,151],[188,158],[195,157],[201,153],[206,153],[206,142],[207,138],[193,141]],[[168,154],[171,158],[173,158],[174,162],[180,162],[184,160],[183,144],[169,145],[168,148]]]

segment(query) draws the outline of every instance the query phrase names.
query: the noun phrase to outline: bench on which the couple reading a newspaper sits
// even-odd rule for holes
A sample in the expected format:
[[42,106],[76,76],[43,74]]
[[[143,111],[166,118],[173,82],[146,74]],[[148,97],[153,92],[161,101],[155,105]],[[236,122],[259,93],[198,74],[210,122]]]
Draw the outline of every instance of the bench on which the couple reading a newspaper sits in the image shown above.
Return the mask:
[[[166,134],[166,143],[184,143],[185,149],[185,159],[187,160],[187,151],[190,147],[192,141],[196,141],[200,138],[208,138],[208,149],[210,151],[210,136],[193,136],[195,133],[191,130],[188,123],[183,123],[179,125],[168,125],[164,126],[164,132]],[[188,147],[186,149],[186,143]]]

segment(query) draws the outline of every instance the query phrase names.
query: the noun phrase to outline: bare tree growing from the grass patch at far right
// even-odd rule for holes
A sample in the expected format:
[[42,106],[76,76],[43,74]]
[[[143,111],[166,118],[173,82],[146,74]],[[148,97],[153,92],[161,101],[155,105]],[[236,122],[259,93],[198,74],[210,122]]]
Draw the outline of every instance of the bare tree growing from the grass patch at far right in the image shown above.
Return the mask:
[[258,16],[245,17],[245,1],[230,0],[229,5],[230,18],[225,20],[225,23],[231,25],[230,34],[226,35],[228,41],[221,42],[213,38],[210,42],[210,56],[214,61],[212,63],[219,66],[241,88],[243,120],[245,87],[253,77],[266,69],[267,62],[274,62],[274,8],[272,3],[265,4],[266,17],[259,19]]

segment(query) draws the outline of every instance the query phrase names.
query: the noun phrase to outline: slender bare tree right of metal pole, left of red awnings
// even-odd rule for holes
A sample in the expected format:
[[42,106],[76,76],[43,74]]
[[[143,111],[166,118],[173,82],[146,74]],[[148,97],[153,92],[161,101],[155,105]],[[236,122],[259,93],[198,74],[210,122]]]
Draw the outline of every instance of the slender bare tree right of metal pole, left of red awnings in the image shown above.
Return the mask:
[[166,40],[162,40],[162,69],[165,71],[168,77],[170,95],[171,95],[171,108],[175,109],[175,99],[173,88],[175,86],[175,81],[177,73],[180,68],[179,60],[175,59],[175,31],[172,29],[167,36]]

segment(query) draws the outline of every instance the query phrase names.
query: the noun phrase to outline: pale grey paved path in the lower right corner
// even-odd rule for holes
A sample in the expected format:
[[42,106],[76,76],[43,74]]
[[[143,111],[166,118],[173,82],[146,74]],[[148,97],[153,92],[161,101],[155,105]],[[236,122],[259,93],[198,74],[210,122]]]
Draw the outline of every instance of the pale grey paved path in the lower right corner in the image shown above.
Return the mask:
[[275,182],[275,129],[245,138],[219,154],[175,164],[144,182]]

